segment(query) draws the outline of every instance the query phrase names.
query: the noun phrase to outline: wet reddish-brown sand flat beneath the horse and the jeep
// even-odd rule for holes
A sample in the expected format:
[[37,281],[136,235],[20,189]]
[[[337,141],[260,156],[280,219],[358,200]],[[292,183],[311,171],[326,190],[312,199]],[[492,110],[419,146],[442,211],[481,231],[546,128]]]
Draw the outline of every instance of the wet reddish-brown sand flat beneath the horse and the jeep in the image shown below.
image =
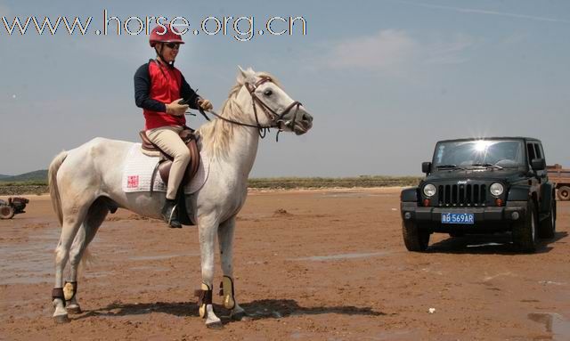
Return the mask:
[[[253,191],[235,235],[237,300],[251,321],[206,329],[194,227],[119,210],[90,246],[84,313],[52,320],[60,227],[47,196],[0,221],[0,339],[568,340],[570,202],[554,240],[519,255],[509,235],[432,235],[403,247],[399,189]],[[216,259],[216,288],[222,274]],[[215,303],[221,302],[218,296]],[[431,313],[430,313],[431,312]]]

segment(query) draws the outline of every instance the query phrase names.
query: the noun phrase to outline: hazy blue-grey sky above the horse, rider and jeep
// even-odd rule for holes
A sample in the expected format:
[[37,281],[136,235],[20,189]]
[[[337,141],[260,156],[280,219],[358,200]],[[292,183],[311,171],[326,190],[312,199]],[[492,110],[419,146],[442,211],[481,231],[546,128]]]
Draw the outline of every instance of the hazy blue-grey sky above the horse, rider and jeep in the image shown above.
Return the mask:
[[[154,52],[144,33],[118,36],[112,23],[97,35],[104,10],[122,22],[189,20],[176,67],[215,110],[238,65],[272,73],[304,104],[313,129],[279,142],[269,134],[252,177],[420,175],[438,140],[497,135],[539,138],[548,164],[570,166],[566,0],[0,0],[9,26],[14,17],[40,25],[46,16],[93,17],[83,36],[63,23],[54,35],[38,35],[33,23],[10,35],[0,22],[0,174],[45,169],[96,136],[138,142],[144,119],[133,75]],[[225,35],[208,35],[200,21],[211,16],[253,17],[256,34],[238,41],[228,21]],[[303,17],[305,35],[300,25],[291,35],[257,34],[270,18],[289,16]],[[189,126],[204,122],[191,117]]]

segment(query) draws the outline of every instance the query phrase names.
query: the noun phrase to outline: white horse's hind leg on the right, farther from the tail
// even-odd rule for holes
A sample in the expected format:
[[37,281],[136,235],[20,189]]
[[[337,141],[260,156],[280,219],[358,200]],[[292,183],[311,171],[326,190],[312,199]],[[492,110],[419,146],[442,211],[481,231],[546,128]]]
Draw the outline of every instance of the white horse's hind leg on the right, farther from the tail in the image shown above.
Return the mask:
[[73,240],[69,251],[69,277],[63,287],[68,313],[81,313],[81,307],[77,302],[77,270],[82,259],[88,255],[87,246],[94,240],[99,226],[108,214],[109,208],[104,199],[95,200],[93,205],[89,207],[85,222],[81,224],[75,240]]

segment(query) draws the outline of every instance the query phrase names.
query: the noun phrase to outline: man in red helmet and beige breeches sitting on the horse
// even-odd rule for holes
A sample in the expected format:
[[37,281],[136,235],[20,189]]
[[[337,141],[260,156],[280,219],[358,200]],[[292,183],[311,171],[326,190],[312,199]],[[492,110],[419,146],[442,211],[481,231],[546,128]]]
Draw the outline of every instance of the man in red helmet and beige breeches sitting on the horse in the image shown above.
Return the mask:
[[184,44],[175,28],[171,25],[153,28],[149,42],[157,57],[136,70],[134,101],[142,108],[149,140],[174,158],[162,217],[168,226],[179,228],[182,224],[175,205],[176,191],[190,162],[190,152],[178,134],[186,124],[184,114],[189,107],[210,110],[212,103],[194,92],[174,66],[180,45]]

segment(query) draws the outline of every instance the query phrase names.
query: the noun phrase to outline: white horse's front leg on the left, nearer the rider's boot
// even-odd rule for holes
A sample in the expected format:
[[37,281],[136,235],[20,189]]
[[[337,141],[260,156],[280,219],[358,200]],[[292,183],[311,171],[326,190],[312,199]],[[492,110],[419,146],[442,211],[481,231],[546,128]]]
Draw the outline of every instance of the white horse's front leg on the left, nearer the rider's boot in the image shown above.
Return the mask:
[[206,319],[206,326],[211,329],[223,328],[222,321],[214,313],[212,292],[214,283],[214,251],[216,248],[216,233],[218,222],[213,215],[199,217],[199,248],[201,254],[202,284],[196,290],[199,316]]

